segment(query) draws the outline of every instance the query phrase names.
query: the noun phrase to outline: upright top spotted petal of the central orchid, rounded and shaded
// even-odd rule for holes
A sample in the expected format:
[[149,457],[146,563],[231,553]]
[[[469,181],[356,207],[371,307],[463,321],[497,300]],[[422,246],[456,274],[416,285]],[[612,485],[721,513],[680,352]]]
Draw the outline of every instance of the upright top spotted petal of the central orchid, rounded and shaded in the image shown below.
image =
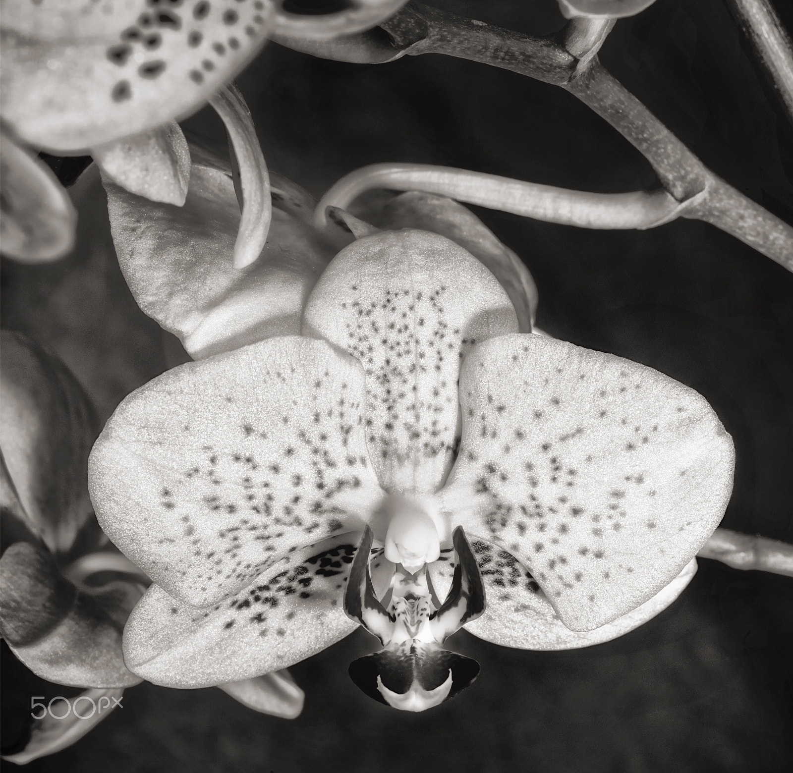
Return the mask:
[[411,229],[339,252],[303,321],[304,335],[366,369],[366,442],[389,492],[439,488],[456,451],[460,362],[475,341],[516,330],[515,309],[485,266],[450,239]]

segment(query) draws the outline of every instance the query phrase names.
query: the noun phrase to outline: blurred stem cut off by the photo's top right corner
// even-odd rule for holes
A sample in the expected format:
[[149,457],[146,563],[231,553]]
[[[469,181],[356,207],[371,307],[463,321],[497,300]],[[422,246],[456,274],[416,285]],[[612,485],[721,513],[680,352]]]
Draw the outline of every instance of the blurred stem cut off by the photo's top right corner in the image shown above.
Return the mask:
[[770,0],[727,0],[793,122],[793,42]]

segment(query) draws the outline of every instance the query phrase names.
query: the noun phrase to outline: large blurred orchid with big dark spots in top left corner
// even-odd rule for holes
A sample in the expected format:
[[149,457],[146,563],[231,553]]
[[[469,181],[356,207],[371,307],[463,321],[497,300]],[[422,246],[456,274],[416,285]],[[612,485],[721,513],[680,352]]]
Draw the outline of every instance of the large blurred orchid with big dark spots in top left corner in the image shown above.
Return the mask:
[[[4,254],[43,262],[74,243],[75,210],[36,151],[90,153],[133,193],[182,205],[190,154],[175,121],[213,100],[269,33],[358,33],[404,2],[354,0],[320,13],[282,0],[3,2]],[[226,121],[222,108],[221,99]]]

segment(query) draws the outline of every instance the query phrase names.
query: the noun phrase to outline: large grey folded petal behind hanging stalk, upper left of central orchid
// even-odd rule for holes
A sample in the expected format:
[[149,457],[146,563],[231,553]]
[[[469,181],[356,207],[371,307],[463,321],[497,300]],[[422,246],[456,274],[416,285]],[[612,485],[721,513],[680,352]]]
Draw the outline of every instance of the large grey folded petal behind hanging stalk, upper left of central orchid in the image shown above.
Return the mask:
[[236,269],[239,205],[231,175],[216,159],[193,155],[182,208],[106,184],[119,262],[140,308],[195,359],[297,335],[308,293],[333,257],[311,224],[312,201],[278,178],[264,254]]

